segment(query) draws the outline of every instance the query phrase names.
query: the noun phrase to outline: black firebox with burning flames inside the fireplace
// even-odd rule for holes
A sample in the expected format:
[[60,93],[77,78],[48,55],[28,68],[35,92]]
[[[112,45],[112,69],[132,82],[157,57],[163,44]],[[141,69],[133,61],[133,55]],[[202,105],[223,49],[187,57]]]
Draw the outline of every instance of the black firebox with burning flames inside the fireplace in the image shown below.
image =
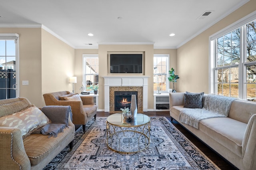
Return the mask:
[[114,95],[115,111],[120,111],[120,109],[124,109],[124,107],[130,108],[132,95],[136,95],[136,101],[138,102],[137,91],[115,91]]

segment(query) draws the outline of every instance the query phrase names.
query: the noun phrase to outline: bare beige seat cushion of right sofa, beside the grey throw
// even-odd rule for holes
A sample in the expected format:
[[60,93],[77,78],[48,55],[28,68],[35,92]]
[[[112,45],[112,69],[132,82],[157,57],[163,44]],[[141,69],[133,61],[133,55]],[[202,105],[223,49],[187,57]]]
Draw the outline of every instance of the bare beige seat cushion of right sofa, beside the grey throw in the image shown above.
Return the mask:
[[[238,156],[242,156],[242,140],[247,124],[228,117],[204,119],[199,128],[216,142],[228,148]],[[210,145],[210,144],[209,144]]]

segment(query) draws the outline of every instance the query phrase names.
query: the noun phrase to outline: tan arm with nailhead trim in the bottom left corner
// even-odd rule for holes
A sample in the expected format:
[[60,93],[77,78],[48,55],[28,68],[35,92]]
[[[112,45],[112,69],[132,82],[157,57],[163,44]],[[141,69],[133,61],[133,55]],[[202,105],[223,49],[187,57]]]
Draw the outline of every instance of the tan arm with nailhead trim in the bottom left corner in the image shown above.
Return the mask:
[[1,169],[31,169],[19,128],[0,127],[0,153]]

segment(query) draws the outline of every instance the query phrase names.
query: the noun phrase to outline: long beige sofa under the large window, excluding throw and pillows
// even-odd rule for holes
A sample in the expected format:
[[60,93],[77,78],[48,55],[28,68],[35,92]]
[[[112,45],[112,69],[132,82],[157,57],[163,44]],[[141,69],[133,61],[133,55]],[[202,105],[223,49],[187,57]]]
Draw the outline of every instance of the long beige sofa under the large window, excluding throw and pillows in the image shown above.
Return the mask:
[[[203,102],[206,94],[204,94]],[[184,93],[170,93],[170,116],[240,170],[256,169],[256,103],[237,99],[228,117],[204,119],[199,128],[179,121]]]

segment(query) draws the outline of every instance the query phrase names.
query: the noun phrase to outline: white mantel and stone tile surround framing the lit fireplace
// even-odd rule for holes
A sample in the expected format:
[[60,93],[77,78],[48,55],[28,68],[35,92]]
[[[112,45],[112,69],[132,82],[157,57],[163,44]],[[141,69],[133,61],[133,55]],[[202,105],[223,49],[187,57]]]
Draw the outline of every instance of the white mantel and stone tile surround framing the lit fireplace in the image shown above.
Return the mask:
[[[104,99],[105,99],[104,111],[113,112],[113,113],[115,112],[114,111],[114,93],[113,93],[114,91],[138,91],[138,112],[141,111],[141,109],[142,111],[147,112],[148,111],[148,77],[149,76],[103,76],[104,91],[105,91],[104,92]],[[127,89],[127,87],[129,88]],[[140,97],[142,97],[142,103],[139,102]]]

